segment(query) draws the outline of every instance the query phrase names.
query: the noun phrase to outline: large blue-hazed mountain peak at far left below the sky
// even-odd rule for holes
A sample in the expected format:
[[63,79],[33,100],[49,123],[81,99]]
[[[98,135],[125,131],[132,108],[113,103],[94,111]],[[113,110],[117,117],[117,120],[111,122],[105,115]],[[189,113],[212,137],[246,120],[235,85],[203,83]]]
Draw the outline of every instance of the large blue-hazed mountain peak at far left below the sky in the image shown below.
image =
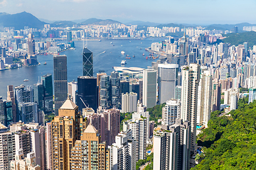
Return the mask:
[[0,26],[14,27],[16,30],[20,30],[24,29],[24,26],[41,29],[44,24],[46,23],[38,20],[31,13],[0,13]]

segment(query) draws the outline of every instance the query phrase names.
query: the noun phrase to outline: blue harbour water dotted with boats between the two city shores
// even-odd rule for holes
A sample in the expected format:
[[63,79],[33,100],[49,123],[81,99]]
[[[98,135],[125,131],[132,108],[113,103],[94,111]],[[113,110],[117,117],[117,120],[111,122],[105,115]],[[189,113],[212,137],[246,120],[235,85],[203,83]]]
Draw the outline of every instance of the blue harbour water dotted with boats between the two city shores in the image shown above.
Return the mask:
[[[88,40],[87,47],[93,52],[94,76],[96,76],[99,70],[104,70],[110,75],[114,71],[112,67],[121,66],[122,60],[127,60],[125,67],[141,67],[146,69],[146,67],[151,66],[151,62],[154,60],[146,60],[149,52],[146,52],[145,48],[150,47],[152,42],[161,42],[162,40],[164,38],[101,40],[101,42],[98,40]],[[77,81],[78,76],[82,76],[82,48],[85,44],[86,42],[83,41],[75,41],[75,50],[60,52],[60,55],[66,55],[68,58],[68,82]],[[124,51],[125,54],[122,55],[121,51]],[[142,56],[143,53],[145,56]],[[131,59],[126,59],[126,55],[129,55]],[[133,55],[135,57],[132,57]],[[8,85],[33,85],[38,82],[38,77],[47,73],[53,74],[53,55],[38,55],[38,62],[41,65],[0,71],[0,96],[6,99]],[[47,64],[43,65],[44,62]],[[23,81],[23,79],[29,79],[29,81]]]

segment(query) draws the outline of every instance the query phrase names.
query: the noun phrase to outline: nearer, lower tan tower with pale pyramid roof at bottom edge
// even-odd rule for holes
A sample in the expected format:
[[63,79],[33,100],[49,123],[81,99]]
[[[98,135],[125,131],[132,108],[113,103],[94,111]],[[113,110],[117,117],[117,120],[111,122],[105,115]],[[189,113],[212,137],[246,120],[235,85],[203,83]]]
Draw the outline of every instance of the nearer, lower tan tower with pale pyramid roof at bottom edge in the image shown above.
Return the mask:
[[81,140],[76,140],[70,149],[70,169],[110,169],[110,154],[106,147],[97,130],[91,124],[88,125]]

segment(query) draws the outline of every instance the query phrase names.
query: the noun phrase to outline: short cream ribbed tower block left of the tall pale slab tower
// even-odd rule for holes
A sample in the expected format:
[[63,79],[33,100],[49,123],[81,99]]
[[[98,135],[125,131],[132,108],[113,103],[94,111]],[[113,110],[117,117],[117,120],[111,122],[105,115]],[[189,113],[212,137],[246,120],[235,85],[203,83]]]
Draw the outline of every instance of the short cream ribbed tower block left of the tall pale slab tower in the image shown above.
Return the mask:
[[132,113],[137,111],[137,94],[131,92],[122,94],[122,111],[121,113]]

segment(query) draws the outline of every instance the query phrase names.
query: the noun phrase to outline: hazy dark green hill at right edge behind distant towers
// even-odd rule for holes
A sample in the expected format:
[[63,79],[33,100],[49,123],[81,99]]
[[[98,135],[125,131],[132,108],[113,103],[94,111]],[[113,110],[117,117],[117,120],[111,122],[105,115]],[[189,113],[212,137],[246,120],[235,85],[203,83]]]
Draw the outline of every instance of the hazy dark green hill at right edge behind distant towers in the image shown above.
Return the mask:
[[230,33],[223,35],[224,38],[222,42],[228,42],[230,45],[241,45],[243,42],[248,42],[248,45],[252,47],[256,45],[256,32],[250,31],[245,33]]

